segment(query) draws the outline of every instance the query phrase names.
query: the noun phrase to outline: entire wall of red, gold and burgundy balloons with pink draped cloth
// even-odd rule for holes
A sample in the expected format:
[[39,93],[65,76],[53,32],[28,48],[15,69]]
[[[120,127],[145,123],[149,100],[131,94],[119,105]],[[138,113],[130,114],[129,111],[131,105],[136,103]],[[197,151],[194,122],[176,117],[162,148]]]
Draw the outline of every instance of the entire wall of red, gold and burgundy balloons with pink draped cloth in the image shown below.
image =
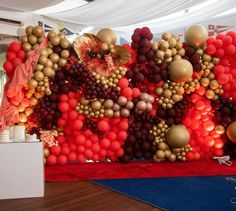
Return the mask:
[[236,33],[207,36],[143,27],[121,46],[108,28],[70,43],[28,26],[6,54],[1,129],[36,133],[46,165],[234,156]]

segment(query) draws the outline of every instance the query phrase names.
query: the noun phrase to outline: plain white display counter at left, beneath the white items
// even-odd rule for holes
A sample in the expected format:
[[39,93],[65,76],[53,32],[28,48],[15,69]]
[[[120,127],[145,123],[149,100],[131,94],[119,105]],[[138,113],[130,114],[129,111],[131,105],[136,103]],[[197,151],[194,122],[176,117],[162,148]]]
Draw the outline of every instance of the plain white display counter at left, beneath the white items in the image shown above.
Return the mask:
[[0,143],[0,199],[43,196],[42,142]]

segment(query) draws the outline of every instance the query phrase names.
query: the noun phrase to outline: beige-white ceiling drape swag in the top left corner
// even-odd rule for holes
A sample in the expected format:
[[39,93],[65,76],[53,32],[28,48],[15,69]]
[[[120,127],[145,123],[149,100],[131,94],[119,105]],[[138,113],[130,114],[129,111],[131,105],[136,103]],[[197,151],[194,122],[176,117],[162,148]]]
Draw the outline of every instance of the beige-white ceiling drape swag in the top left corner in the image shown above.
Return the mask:
[[1,0],[0,8],[8,10],[32,11],[58,4],[63,0]]

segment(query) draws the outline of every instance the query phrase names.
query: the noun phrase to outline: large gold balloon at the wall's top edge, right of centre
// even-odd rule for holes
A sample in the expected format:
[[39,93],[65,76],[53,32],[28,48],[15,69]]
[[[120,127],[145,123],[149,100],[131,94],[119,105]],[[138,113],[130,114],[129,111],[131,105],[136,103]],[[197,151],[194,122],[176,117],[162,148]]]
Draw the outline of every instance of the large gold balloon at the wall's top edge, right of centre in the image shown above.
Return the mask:
[[206,28],[200,24],[193,25],[185,32],[185,41],[187,44],[199,48],[201,47],[208,37]]

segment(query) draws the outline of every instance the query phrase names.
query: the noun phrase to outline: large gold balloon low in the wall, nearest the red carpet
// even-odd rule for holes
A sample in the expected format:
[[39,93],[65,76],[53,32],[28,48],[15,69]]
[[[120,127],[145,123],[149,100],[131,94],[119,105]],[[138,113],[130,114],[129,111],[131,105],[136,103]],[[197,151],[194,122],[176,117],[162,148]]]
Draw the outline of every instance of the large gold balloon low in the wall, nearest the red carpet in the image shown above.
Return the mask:
[[186,146],[189,139],[189,131],[184,125],[173,125],[166,134],[167,143],[175,148]]

